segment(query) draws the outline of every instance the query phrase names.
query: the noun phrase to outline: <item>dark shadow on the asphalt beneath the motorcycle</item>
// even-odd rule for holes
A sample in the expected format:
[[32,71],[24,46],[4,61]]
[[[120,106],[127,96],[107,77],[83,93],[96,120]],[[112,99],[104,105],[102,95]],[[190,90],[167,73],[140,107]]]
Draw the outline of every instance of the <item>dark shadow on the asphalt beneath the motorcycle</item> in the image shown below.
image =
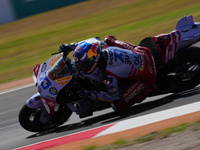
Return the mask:
[[[40,132],[40,133],[36,133],[33,134],[28,138],[35,138],[38,136],[45,136],[48,134],[52,134],[52,133],[60,133],[60,132],[66,132],[66,131],[72,131],[75,129],[80,129],[80,128],[84,128],[87,127],[87,129],[97,123],[100,123],[100,126],[106,125],[106,124],[110,124],[113,122],[117,122],[117,121],[122,121],[125,120],[127,118],[130,118],[132,116],[132,118],[136,117],[137,114],[143,113],[145,111],[148,110],[152,110],[154,108],[166,105],[168,103],[171,103],[173,101],[176,101],[180,98],[189,98],[190,96],[194,96],[194,95],[198,95],[200,94],[200,87],[197,88],[193,88],[191,90],[187,90],[185,92],[181,92],[181,93],[176,93],[176,94],[172,94],[160,99],[156,99],[153,101],[149,101],[149,102],[145,102],[141,103],[139,105],[134,105],[132,106],[128,111],[124,112],[124,113],[115,113],[115,112],[109,112],[107,114],[103,114],[97,117],[93,117],[93,118],[89,118],[89,119],[85,119],[79,123],[74,123],[74,124],[70,124],[70,125],[64,125],[64,126],[60,126],[56,129],[52,129],[52,130],[48,130],[45,132]],[[92,127],[94,128],[94,127]]]

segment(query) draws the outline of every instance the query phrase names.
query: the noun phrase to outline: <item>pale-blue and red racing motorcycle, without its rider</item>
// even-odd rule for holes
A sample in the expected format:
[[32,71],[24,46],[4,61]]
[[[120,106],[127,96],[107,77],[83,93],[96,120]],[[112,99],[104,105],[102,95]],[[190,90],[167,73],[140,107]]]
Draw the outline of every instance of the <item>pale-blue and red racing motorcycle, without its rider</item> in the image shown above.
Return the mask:
[[[158,90],[149,96],[182,92],[200,83],[200,48],[192,46],[200,40],[200,22],[194,22],[192,16],[185,16],[177,22],[170,36],[171,47],[169,45],[167,50],[171,48],[171,56],[166,56],[165,61],[168,62],[160,68],[160,58],[155,57],[155,84],[158,84]],[[164,41],[160,39],[158,44],[162,48]],[[150,37],[143,39],[138,46],[148,47],[154,56],[158,55],[157,46]],[[91,84],[83,78],[78,73],[74,61],[64,52],[57,53],[41,65],[36,65],[33,69],[33,79],[38,92],[27,100],[19,113],[19,122],[28,131],[42,132],[54,129],[65,123],[72,112],[84,118],[93,115],[94,111],[111,107],[108,102],[95,101],[92,98],[84,100],[79,96],[82,90],[106,92],[106,87]],[[126,88],[129,83],[129,80],[118,81],[120,89]]]

